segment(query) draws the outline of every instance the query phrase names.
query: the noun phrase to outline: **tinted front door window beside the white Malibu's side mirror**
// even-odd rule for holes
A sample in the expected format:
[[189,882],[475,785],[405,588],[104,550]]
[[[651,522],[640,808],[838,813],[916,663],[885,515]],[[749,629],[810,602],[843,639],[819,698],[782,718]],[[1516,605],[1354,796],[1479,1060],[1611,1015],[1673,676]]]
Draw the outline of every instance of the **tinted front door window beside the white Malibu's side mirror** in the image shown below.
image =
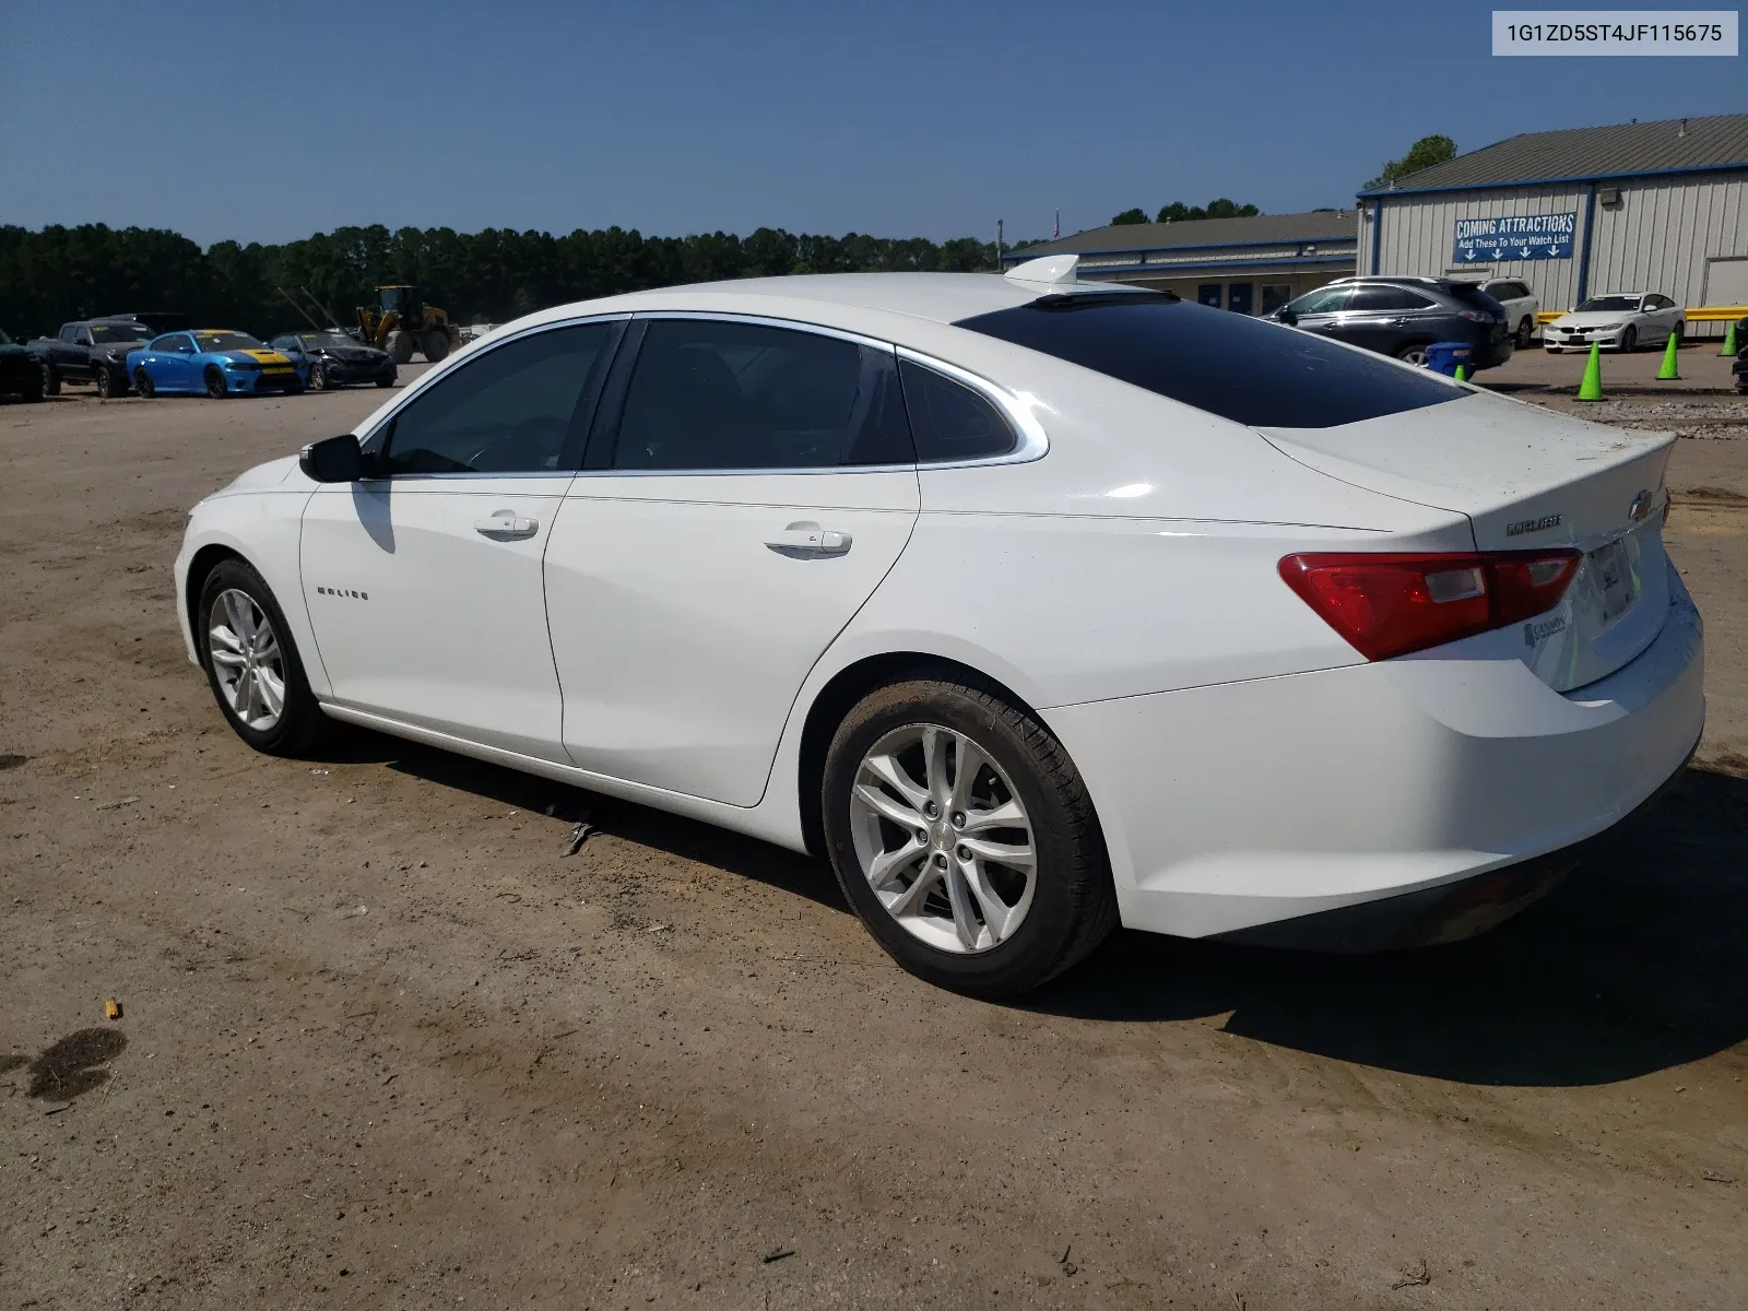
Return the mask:
[[378,470],[395,474],[544,474],[580,440],[584,400],[607,367],[617,323],[575,323],[507,341],[461,365],[390,421]]

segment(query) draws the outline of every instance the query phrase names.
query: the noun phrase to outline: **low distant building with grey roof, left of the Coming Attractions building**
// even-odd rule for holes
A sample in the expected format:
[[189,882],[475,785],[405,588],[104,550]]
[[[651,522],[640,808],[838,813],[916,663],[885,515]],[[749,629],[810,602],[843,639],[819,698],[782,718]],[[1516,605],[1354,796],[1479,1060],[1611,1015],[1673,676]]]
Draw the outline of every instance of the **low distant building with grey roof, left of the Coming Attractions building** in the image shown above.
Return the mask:
[[1267,315],[1353,274],[1353,210],[1115,224],[1003,252],[1003,267],[1044,255],[1080,255],[1089,280],[1161,287],[1243,315]]

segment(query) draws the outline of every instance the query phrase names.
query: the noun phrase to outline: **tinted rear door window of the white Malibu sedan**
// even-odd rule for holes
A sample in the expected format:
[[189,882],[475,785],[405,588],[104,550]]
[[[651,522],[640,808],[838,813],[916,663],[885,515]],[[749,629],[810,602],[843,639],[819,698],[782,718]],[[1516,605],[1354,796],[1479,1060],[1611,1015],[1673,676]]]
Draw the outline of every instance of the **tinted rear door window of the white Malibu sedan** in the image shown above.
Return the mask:
[[914,460],[891,351],[818,332],[657,318],[614,468],[832,468]]

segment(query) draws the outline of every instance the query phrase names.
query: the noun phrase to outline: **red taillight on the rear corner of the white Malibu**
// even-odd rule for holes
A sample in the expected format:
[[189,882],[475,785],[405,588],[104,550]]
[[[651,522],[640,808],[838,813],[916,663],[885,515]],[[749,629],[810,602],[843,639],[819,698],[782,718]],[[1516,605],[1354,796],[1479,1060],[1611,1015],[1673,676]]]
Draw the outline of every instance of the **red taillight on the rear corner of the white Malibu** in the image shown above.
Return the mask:
[[1517,624],[1552,610],[1578,572],[1577,551],[1475,556],[1287,556],[1287,586],[1369,661]]

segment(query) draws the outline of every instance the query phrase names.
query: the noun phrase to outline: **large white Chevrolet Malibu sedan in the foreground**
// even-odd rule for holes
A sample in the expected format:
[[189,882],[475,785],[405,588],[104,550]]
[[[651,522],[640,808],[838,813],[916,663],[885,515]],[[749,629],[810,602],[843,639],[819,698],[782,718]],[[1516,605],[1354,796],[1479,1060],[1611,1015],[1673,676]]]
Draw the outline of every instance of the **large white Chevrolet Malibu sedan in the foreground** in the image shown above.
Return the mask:
[[1110,283],[638,292],[201,502],[252,746],[360,724],[829,857],[905,968],[1479,932],[1692,752],[1668,435]]

